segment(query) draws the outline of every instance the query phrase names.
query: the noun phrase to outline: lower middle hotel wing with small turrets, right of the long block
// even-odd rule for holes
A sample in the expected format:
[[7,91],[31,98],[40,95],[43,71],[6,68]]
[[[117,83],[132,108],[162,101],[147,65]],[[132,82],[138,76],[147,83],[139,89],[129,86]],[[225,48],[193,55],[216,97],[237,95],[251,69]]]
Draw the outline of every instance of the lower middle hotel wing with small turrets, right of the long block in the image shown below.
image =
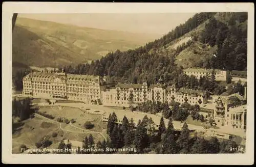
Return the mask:
[[187,102],[191,105],[206,103],[203,92],[190,89],[177,89],[175,85],[162,84],[147,86],[143,84],[118,84],[115,88],[102,91],[102,104],[107,106],[129,107],[131,102],[139,104],[146,101],[170,103]]

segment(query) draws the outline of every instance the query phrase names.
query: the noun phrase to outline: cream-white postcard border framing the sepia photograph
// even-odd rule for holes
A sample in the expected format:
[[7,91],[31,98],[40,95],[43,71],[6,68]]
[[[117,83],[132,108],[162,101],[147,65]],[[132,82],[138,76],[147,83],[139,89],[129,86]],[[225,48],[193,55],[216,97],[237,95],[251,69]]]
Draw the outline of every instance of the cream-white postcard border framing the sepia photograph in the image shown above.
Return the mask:
[[[248,12],[247,134],[245,154],[12,154],[11,76],[13,13],[190,13]],[[2,162],[66,164],[253,164],[254,4],[253,3],[47,3],[4,2],[2,29]]]

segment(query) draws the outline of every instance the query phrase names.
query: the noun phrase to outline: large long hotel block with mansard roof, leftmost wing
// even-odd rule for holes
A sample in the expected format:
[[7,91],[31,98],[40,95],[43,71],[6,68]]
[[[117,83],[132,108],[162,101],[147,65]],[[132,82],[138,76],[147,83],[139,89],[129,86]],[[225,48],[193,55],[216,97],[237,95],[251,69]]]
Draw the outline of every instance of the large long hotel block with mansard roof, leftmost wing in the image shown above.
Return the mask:
[[23,94],[35,98],[98,104],[100,92],[99,76],[31,72],[23,78]]

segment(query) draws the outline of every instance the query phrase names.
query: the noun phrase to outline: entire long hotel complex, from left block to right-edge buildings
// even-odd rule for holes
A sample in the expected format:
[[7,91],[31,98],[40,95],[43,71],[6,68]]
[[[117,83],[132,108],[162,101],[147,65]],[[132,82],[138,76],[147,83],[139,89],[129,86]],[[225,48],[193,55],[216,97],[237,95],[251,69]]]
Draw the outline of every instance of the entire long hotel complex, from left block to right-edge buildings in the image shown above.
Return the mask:
[[[35,98],[119,107],[129,107],[148,100],[161,103],[187,102],[198,104],[200,114],[215,119],[218,126],[246,128],[246,90],[244,97],[236,93],[229,96],[211,95],[206,99],[202,91],[177,89],[175,85],[165,86],[161,82],[150,86],[146,82],[117,84],[107,89],[100,76],[31,72],[23,78],[23,93]],[[240,103],[237,103],[237,99]]]

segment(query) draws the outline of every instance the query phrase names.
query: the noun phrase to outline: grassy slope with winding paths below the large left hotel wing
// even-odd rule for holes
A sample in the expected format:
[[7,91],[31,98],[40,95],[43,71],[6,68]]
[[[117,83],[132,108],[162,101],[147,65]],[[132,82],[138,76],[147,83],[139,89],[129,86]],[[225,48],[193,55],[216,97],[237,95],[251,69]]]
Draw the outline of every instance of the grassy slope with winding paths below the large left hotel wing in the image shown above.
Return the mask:
[[[61,123],[61,127],[65,129],[61,130],[59,128],[59,123],[50,122],[48,119],[41,119],[37,117],[25,120],[23,123],[24,124],[21,124],[21,126],[17,128],[18,130],[16,130],[12,135],[12,153],[19,153],[19,147],[22,144],[25,144],[29,148],[36,148],[35,143],[46,135],[50,136],[50,141],[53,142],[49,148],[57,148],[58,143],[61,140],[69,139],[82,142],[86,136],[89,137],[90,135],[90,132],[82,133],[80,129],[74,128],[65,123]],[[103,124],[103,122],[101,124]],[[98,128],[97,125],[95,128]],[[52,136],[53,132],[57,133],[56,137]],[[95,143],[103,141],[104,139],[98,133],[91,134],[93,135]]]

